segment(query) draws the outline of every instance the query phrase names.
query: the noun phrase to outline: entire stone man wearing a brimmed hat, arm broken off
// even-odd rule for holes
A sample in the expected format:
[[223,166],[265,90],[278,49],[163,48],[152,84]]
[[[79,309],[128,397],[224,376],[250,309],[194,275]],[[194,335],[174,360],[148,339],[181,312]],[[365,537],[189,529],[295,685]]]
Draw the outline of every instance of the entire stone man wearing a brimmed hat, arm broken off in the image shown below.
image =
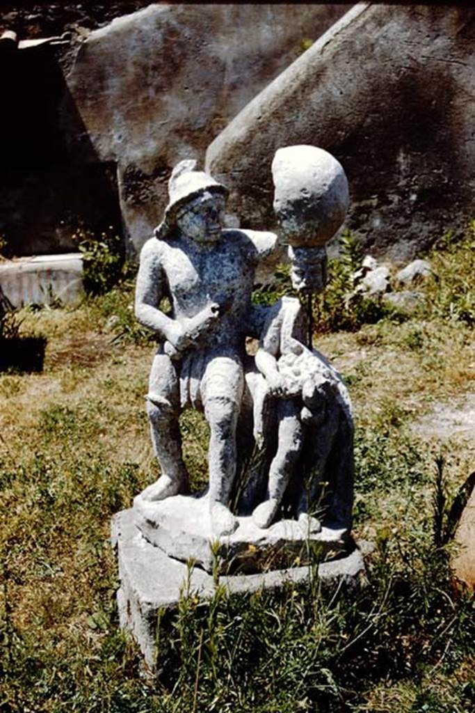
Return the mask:
[[[187,491],[178,416],[192,406],[210,429],[209,509],[215,535],[237,527],[228,508],[236,471],[236,424],[244,387],[243,326],[257,262],[276,235],[223,230],[227,190],[196,162],[182,161],[169,180],[169,204],[140,255],[135,314],[161,346],[150,372],[147,411],[162,475],[142,498]],[[169,315],[160,302],[168,297]]]

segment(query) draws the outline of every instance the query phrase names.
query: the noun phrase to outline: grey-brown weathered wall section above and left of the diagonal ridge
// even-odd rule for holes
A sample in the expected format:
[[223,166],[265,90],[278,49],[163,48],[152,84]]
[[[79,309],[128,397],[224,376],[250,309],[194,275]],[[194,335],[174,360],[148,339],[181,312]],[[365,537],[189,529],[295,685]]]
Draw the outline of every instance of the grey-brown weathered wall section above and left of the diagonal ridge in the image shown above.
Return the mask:
[[[125,227],[138,251],[167,202],[166,180],[338,19],[343,5],[152,4],[90,33],[67,78],[87,138],[118,163]],[[65,107],[66,109],[66,107]],[[235,220],[233,217],[230,221]]]

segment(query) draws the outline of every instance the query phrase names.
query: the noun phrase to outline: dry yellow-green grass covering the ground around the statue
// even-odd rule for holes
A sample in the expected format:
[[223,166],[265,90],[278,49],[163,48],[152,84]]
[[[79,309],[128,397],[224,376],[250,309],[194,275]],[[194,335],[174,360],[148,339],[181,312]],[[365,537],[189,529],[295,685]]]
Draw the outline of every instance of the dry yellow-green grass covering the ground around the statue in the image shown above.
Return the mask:
[[[218,585],[210,606],[185,592],[158,677],[118,628],[108,544],[110,516],[158,473],[144,402],[153,342],[133,320],[132,284],[78,309],[23,310],[47,346],[43,372],[0,374],[2,713],[474,709],[474,604],[437,536],[474,445],[414,429],[434,404],[473,392],[473,240],[471,227],[440,241],[412,316],[320,320],[315,346],[355,409],[355,535],[376,545],[365,588],[328,593],[313,578],[228,597]],[[182,430],[199,488],[207,426],[187,412]]]

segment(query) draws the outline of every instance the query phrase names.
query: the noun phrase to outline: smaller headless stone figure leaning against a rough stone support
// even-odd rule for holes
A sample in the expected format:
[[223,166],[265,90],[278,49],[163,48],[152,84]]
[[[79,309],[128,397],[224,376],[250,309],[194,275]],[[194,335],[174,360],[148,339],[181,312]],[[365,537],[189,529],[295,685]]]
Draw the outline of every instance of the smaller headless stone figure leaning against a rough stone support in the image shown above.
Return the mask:
[[[262,321],[262,308],[256,312]],[[246,374],[246,382],[254,405],[254,438],[270,466],[266,483],[253,479],[246,483],[241,504],[244,511],[254,507],[254,522],[268,528],[293,480],[293,513],[304,532],[321,530],[320,521],[312,514],[317,505],[325,512],[327,524],[330,521],[350,529],[350,398],[335,369],[303,343],[305,327],[295,297],[283,297],[266,310],[255,367]],[[273,443],[275,434],[277,443]]]

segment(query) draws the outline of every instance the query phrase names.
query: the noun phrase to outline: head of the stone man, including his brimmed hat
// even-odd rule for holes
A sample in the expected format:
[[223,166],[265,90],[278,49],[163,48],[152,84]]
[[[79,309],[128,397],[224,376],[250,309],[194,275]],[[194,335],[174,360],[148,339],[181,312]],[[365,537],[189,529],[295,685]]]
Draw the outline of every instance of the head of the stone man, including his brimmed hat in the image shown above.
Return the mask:
[[155,228],[159,239],[178,231],[197,242],[219,240],[229,192],[208,173],[194,170],[196,165],[195,160],[184,160],[174,167],[165,216]]

